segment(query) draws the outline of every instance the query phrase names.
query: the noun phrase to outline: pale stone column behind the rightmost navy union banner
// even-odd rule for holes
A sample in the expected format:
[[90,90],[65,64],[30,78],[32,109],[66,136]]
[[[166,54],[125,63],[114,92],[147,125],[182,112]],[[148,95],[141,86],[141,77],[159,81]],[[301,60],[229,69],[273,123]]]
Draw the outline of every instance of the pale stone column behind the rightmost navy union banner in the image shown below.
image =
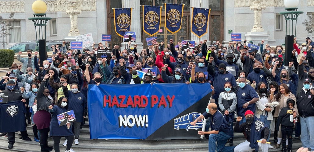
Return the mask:
[[[201,7],[200,7],[200,4],[201,4]],[[190,1],[190,6],[195,7],[195,8],[208,8],[209,7],[208,5],[209,5],[208,0],[192,0],[192,1]],[[191,8],[190,12],[191,12],[191,18],[192,18],[192,13],[193,13],[192,8]],[[209,15],[210,15],[210,13],[209,13]],[[191,22],[191,20],[189,22]],[[208,27],[209,27],[209,22],[208,22],[207,27],[206,27],[207,33],[200,38],[200,41],[207,39],[208,41],[206,44],[210,45],[211,42],[209,41],[209,28]],[[192,32],[191,32],[191,40],[198,43],[198,37],[195,34],[193,34]]]

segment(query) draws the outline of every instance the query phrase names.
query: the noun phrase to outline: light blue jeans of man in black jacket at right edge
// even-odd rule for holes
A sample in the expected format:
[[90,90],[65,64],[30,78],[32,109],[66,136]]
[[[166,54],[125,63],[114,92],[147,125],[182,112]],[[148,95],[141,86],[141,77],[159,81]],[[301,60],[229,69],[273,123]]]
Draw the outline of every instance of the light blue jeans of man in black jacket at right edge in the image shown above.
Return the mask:
[[[314,116],[300,117],[302,147],[314,149]],[[311,137],[311,139],[310,139]]]

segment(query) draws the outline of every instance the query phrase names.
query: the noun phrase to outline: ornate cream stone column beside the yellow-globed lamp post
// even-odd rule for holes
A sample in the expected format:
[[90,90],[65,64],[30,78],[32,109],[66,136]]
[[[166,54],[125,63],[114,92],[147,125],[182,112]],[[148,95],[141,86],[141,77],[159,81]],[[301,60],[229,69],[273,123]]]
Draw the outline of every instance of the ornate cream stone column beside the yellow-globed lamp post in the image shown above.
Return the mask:
[[80,33],[78,32],[78,14],[81,13],[81,10],[78,10],[76,8],[77,4],[75,2],[76,0],[74,0],[73,2],[70,2],[68,4],[68,9],[66,10],[66,13],[70,14],[70,21],[71,21],[71,29],[68,36],[80,35]]

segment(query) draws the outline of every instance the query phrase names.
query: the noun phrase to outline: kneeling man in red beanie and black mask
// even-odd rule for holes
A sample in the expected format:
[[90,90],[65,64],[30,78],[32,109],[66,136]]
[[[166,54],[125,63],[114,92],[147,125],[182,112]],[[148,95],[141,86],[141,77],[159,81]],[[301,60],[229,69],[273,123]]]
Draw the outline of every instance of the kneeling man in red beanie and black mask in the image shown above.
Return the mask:
[[[246,133],[245,142],[238,144],[235,148],[235,152],[249,152],[255,150],[259,151],[259,147],[263,152],[268,152],[268,144],[266,144],[269,129],[267,125],[260,121],[257,117],[254,117],[254,113],[251,110],[245,112],[246,122],[240,124],[242,117],[236,118],[235,132]],[[257,140],[260,142],[257,143]]]

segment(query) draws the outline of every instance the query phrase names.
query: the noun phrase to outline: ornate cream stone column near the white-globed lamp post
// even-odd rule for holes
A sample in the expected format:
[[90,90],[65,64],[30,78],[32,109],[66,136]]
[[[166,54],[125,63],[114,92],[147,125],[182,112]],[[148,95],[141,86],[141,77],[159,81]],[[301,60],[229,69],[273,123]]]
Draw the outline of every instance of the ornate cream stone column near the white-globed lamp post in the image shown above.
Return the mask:
[[262,0],[254,0],[254,4],[250,6],[250,10],[254,10],[254,25],[252,32],[263,32],[263,26],[261,25],[262,9],[265,9]]

